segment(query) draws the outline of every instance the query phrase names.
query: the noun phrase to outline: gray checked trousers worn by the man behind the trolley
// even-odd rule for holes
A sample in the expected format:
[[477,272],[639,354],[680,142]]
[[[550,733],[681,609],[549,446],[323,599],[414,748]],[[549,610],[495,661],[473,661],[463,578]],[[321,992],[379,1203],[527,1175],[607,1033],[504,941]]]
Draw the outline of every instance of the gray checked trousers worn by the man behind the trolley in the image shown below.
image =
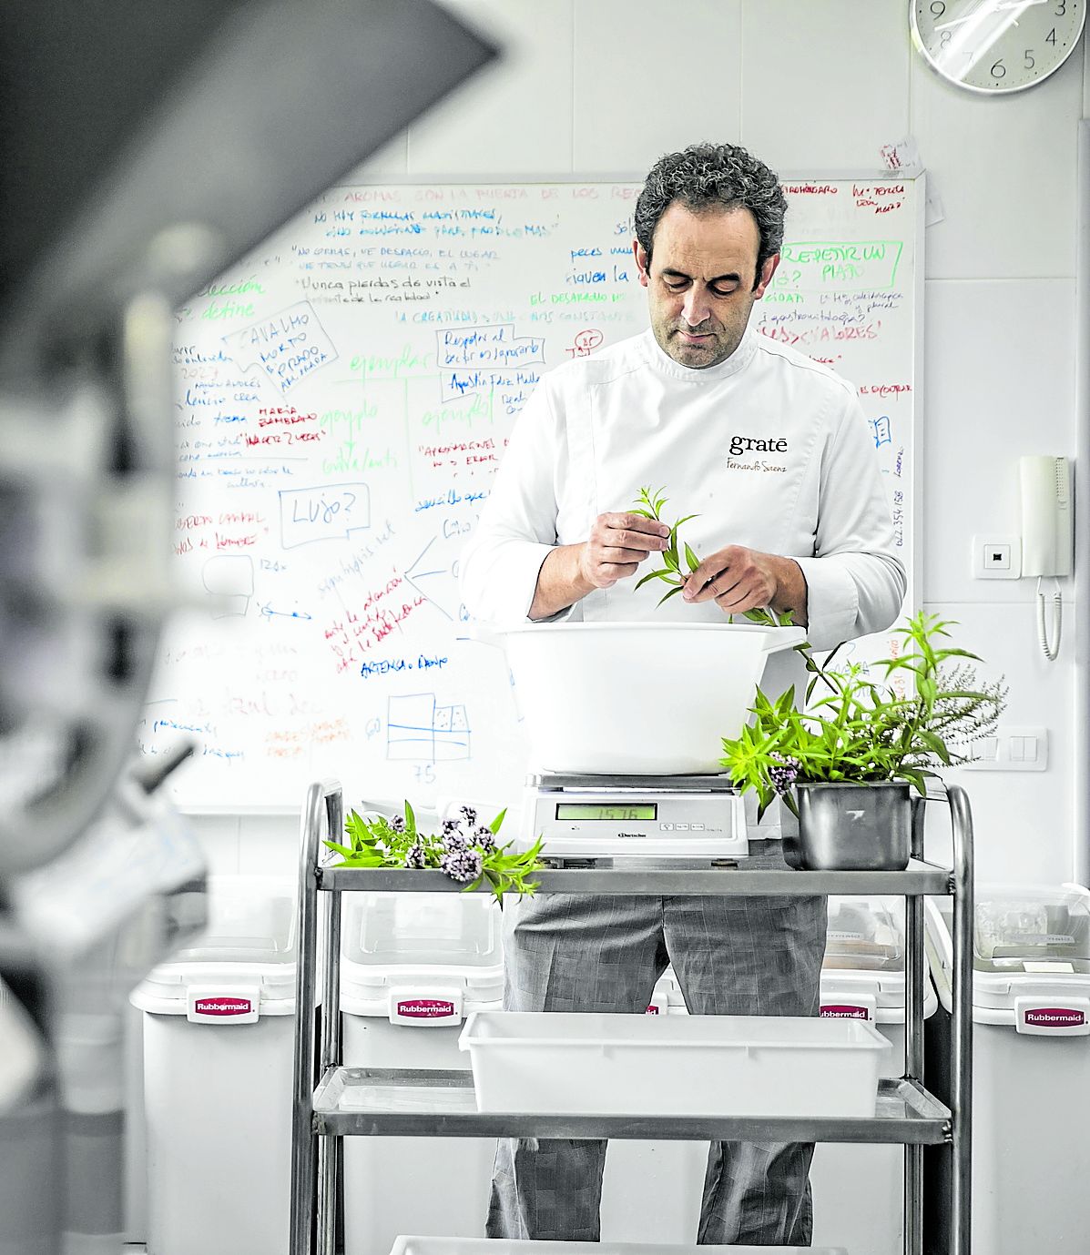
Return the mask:
[[[784,866],[779,852],[753,865]],[[693,1014],[816,1015],[825,932],[824,897],[542,894],[512,912],[504,1007],[643,1012],[672,963]],[[487,1236],[599,1241],[605,1150],[501,1140]],[[809,1246],[812,1153],[809,1143],[712,1142],[697,1241]]]

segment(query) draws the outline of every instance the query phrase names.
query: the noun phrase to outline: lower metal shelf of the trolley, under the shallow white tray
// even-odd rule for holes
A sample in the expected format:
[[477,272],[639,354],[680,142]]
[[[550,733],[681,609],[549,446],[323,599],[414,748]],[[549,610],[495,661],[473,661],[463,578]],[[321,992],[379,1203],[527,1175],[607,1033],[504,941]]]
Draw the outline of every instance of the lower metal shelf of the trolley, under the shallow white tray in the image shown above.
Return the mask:
[[676,1141],[949,1141],[951,1112],[914,1081],[884,1079],[874,1116],[563,1116],[478,1112],[470,1072],[329,1068],[314,1092],[319,1135],[373,1137],[620,1137]]

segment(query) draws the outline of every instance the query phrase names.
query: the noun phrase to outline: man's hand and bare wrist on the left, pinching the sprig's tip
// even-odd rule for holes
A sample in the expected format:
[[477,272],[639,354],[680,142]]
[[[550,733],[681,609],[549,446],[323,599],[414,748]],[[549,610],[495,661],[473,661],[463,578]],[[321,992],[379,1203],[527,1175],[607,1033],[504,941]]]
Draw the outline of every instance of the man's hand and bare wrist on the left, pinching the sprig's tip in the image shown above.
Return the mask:
[[666,548],[669,528],[642,515],[599,515],[581,545],[558,545],[537,572],[531,619],[548,619],[593,592],[635,575],[649,555]]

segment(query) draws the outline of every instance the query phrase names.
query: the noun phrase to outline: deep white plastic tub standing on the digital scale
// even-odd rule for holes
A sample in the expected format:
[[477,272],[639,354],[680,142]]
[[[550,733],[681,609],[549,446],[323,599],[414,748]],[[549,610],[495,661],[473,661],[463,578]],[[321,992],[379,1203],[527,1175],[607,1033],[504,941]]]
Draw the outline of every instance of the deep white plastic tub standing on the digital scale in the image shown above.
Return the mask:
[[736,737],[746,722],[766,659],[805,633],[741,624],[551,622],[497,635],[515,679],[531,769],[677,776],[722,769],[722,739]]

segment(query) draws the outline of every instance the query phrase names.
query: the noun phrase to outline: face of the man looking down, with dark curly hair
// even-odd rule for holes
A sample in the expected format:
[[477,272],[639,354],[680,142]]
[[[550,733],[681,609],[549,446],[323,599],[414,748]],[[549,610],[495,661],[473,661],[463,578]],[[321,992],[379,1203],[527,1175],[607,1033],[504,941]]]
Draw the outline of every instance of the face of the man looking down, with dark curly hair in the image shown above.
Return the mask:
[[702,370],[737,349],[753,301],[764,296],[780,264],[779,255],[769,257],[755,287],[758,246],[748,210],[694,213],[679,201],[658,220],[649,265],[639,241],[634,243],[650,329],[674,361]]

